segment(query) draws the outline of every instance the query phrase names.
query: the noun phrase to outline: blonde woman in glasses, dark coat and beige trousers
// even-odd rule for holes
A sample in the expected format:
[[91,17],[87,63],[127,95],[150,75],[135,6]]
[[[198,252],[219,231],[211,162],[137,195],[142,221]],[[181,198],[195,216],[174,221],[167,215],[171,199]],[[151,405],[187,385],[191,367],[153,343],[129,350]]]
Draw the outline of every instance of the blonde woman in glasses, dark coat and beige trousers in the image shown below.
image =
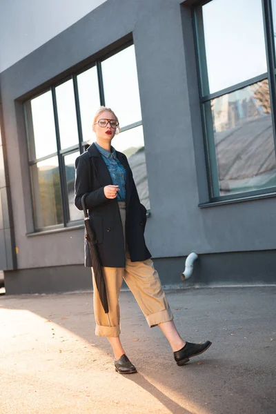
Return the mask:
[[[172,321],[170,306],[145,244],[146,208],[139,201],[126,155],[111,146],[119,132],[117,116],[110,108],[101,106],[92,130],[97,141],[76,159],[75,205],[82,210],[81,197],[88,193],[86,208],[106,282],[108,313],[103,311],[92,269],[96,335],[108,337],[117,372],[137,372],[119,338],[118,299],[124,279],[149,326],[161,328],[177,365],[184,365],[190,357],[206,351],[211,342],[185,342]],[[85,266],[92,267],[92,259],[86,241]]]

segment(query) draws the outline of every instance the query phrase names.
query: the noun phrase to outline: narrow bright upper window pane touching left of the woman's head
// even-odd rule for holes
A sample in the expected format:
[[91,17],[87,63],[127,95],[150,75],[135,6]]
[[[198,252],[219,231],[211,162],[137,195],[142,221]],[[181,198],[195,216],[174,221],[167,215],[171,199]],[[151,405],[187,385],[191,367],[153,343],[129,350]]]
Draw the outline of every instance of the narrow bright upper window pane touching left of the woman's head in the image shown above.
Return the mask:
[[97,68],[91,68],[77,76],[79,108],[83,141],[92,139],[92,121],[100,106]]

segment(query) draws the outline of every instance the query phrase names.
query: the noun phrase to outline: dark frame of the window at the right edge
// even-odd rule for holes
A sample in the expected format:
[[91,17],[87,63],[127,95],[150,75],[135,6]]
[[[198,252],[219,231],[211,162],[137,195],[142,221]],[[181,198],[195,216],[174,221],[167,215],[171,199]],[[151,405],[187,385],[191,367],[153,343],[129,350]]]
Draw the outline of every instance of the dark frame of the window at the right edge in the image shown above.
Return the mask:
[[[216,161],[216,153],[215,148],[210,149],[214,144],[213,139],[208,137],[207,131],[207,122],[206,122],[206,114],[204,111],[204,104],[206,102],[211,101],[217,97],[221,97],[222,95],[229,94],[231,92],[235,92],[236,90],[240,90],[242,88],[246,88],[246,86],[250,86],[257,81],[263,81],[264,79],[268,79],[268,86],[269,86],[269,93],[270,93],[270,108],[271,108],[271,118],[272,118],[272,128],[273,128],[273,139],[274,139],[274,148],[275,148],[275,155],[276,155],[276,59],[275,59],[275,39],[273,33],[273,12],[272,12],[272,0],[262,0],[262,14],[263,14],[263,25],[264,25],[264,40],[265,40],[265,48],[266,48],[266,62],[268,71],[258,75],[257,77],[253,77],[247,79],[246,81],[242,81],[237,83],[233,86],[228,88],[224,88],[222,90],[218,90],[217,92],[207,93],[204,94],[204,82],[206,82],[206,75],[208,75],[207,67],[206,67],[206,49],[205,45],[200,44],[204,41],[204,36],[202,36],[202,32],[204,30],[203,24],[199,21],[200,17],[198,16],[197,9],[205,6],[207,3],[210,3],[213,0],[203,0],[198,1],[192,8],[192,16],[193,16],[193,34],[194,34],[194,43],[195,43],[195,57],[196,57],[196,65],[197,65],[197,80],[199,85],[199,103],[200,103],[200,110],[201,110],[201,122],[202,122],[202,130],[204,136],[204,152],[205,152],[205,160],[206,160],[206,172],[208,177],[208,201],[206,203],[200,203],[199,207],[207,207],[207,206],[217,206],[221,204],[229,204],[235,203],[240,201],[248,201],[251,199],[260,199],[260,198],[267,198],[267,197],[275,197],[276,196],[276,186],[270,188],[263,188],[260,190],[252,190],[246,191],[241,193],[234,193],[232,195],[214,195],[214,186],[219,185],[219,181],[216,175],[217,171],[217,161]],[[276,22],[275,22],[276,24]],[[199,41],[200,39],[200,41]],[[204,55],[202,59],[202,55]],[[208,86],[208,79],[205,85]],[[215,158],[215,159],[214,159]],[[216,180],[216,181],[215,181]]]

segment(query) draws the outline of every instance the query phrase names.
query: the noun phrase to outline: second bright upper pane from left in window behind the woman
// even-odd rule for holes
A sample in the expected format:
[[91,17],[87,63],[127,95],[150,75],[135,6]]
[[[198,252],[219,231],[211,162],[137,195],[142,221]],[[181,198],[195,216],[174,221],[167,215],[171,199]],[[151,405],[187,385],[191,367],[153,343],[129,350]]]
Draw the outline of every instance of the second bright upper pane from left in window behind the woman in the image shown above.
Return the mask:
[[79,144],[72,79],[57,86],[56,96],[61,149],[70,148],[71,146]]

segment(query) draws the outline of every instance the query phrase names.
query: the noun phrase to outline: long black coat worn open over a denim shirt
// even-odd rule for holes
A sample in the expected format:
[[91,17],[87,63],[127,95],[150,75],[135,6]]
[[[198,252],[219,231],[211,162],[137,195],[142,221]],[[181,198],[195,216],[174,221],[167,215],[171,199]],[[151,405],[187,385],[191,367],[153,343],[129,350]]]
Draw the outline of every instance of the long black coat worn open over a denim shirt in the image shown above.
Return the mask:
[[[144,239],[146,208],[139,201],[137,188],[126,155],[117,157],[126,169],[126,241],[132,262],[151,257]],[[90,225],[95,231],[102,266],[125,267],[124,234],[117,199],[108,199],[103,187],[112,185],[110,173],[95,144],[77,157],[75,162],[75,206],[82,210],[81,197],[86,197]],[[91,267],[90,251],[85,239],[85,266]]]

